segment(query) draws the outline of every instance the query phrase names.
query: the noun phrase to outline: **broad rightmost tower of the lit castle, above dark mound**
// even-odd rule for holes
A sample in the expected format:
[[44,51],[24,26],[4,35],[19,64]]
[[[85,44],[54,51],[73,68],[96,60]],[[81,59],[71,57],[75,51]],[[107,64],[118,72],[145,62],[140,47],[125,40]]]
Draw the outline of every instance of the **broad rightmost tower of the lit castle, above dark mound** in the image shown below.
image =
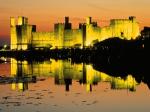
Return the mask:
[[131,40],[140,35],[139,24],[135,17],[129,17],[129,19],[112,19],[110,21],[110,28],[112,29],[112,37]]

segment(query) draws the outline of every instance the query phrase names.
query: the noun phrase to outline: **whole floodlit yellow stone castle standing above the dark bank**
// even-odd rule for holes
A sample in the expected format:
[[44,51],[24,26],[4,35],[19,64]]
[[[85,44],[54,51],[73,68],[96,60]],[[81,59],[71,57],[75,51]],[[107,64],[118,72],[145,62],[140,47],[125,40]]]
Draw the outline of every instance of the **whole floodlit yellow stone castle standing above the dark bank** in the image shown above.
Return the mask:
[[133,16],[112,19],[109,26],[102,28],[87,17],[86,23],[80,23],[78,29],[72,29],[69,17],[65,17],[64,23],[54,24],[52,32],[37,32],[36,26],[29,25],[26,17],[19,16],[17,25],[15,18],[10,18],[11,50],[83,48],[112,37],[136,39],[139,34],[139,24]]

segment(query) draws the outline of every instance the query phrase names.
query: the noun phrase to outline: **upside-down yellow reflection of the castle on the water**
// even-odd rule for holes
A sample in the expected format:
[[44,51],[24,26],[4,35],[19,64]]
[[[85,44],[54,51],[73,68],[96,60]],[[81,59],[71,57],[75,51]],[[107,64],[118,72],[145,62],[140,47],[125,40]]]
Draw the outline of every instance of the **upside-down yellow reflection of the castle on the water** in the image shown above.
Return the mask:
[[92,91],[92,86],[99,82],[109,82],[111,89],[128,89],[130,91],[135,91],[136,85],[138,85],[130,74],[125,78],[113,77],[94,70],[90,64],[76,64],[71,60],[50,59],[42,62],[28,62],[11,59],[11,77],[13,78],[12,90],[19,91],[27,90],[28,83],[36,83],[38,77],[54,77],[54,83],[64,85],[66,91],[69,91],[73,80],[85,85],[87,92]]

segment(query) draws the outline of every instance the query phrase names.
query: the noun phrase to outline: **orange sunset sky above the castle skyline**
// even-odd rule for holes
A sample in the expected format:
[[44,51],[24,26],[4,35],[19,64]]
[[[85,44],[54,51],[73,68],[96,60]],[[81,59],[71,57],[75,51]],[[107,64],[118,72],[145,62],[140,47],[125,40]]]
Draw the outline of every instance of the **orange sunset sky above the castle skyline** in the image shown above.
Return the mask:
[[53,30],[53,24],[69,16],[74,28],[92,16],[99,26],[113,18],[136,16],[140,28],[150,26],[150,0],[0,0],[0,45],[9,43],[10,16],[26,16],[38,31]]

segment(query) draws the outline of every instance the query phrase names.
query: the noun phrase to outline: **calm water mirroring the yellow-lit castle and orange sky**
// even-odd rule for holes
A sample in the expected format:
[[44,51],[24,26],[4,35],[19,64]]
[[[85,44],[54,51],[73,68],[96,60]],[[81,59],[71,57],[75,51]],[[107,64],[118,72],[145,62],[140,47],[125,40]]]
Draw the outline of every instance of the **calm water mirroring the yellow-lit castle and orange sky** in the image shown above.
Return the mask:
[[70,60],[0,64],[0,112],[149,112],[149,83]]

